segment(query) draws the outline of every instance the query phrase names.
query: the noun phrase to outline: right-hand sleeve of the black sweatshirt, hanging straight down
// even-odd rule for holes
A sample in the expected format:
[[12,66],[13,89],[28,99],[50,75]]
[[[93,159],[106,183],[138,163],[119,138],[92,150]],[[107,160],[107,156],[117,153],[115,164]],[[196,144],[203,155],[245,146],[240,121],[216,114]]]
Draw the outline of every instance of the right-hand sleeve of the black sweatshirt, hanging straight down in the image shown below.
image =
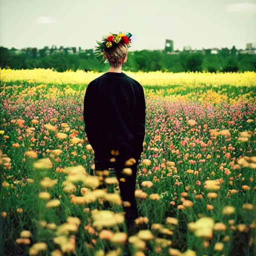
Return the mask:
[[134,134],[134,153],[140,157],[143,151],[143,141],[145,136],[145,96],[143,87],[139,86],[139,98],[136,103],[135,134]]

